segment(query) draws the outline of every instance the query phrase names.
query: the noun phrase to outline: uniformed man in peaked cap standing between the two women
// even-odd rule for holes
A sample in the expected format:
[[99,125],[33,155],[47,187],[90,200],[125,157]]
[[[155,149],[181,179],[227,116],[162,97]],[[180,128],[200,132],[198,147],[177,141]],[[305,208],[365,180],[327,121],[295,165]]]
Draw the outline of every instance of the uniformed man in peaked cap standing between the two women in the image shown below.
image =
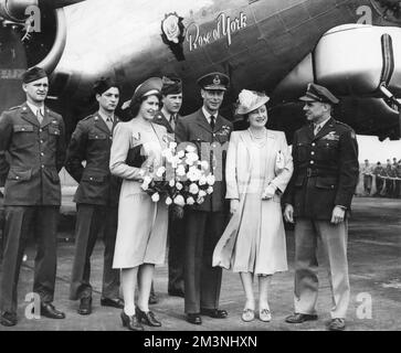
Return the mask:
[[220,319],[228,315],[219,309],[222,271],[212,267],[212,256],[229,213],[224,164],[232,124],[219,114],[229,82],[222,73],[200,77],[203,106],[179,119],[176,127],[177,142],[197,146],[200,159],[210,162],[217,180],[213,193],[202,204],[186,210],[184,311],[187,321],[193,324],[202,323],[201,314]]

